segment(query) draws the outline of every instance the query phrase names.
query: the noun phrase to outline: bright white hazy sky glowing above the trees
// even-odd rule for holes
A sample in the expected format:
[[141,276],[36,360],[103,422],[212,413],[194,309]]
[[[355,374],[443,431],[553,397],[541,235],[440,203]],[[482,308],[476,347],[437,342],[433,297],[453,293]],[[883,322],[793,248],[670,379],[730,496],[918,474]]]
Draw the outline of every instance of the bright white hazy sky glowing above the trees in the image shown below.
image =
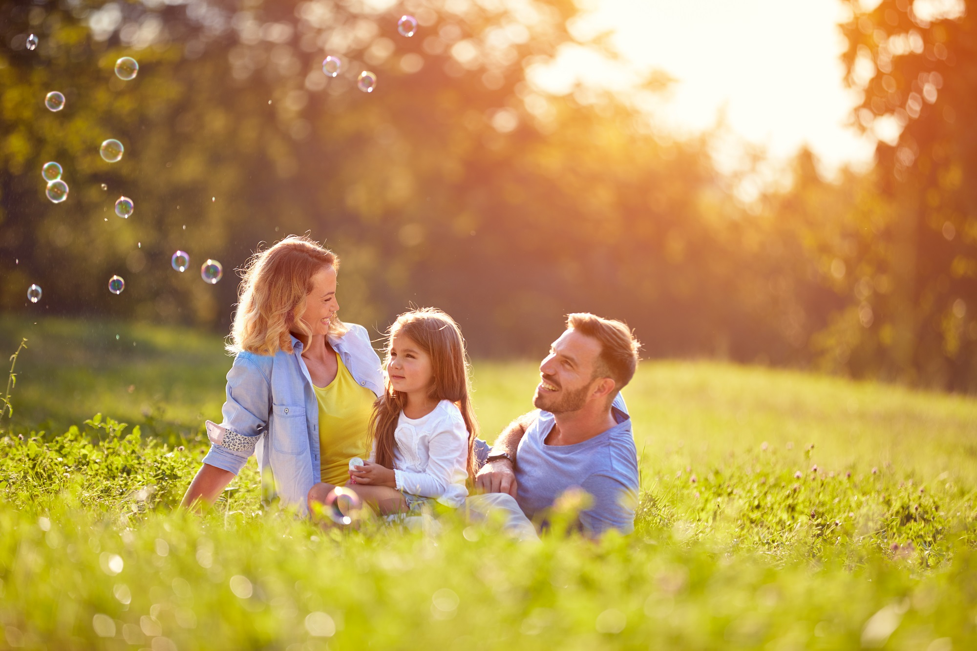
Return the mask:
[[[659,119],[701,130],[725,110],[732,130],[786,157],[807,143],[828,169],[871,160],[874,143],[846,125],[855,99],[842,83],[837,0],[591,0],[581,32],[613,30],[632,65],[678,81]],[[568,53],[547,83],[574,74],[614,87],[625,74]]]

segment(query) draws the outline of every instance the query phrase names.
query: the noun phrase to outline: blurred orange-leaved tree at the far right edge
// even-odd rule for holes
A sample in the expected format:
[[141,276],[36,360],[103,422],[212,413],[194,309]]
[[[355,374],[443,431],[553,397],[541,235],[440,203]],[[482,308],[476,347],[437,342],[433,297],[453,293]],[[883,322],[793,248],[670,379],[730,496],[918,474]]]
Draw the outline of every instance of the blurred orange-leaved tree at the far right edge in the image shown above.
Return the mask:
[[846,4],[878,167],[856,206],[872,237],[841,258],[855,302],[825,342],[857,372],[977,390],[977,2]]

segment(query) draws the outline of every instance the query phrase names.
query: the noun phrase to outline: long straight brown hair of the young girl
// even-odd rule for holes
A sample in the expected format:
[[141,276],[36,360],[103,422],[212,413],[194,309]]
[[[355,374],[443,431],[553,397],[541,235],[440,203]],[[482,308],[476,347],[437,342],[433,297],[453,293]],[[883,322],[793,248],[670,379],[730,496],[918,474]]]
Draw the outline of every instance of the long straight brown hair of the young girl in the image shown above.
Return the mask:
[[[468,460],[465,465],[468,478],[474,480],[473,459],[479,425],[475,419],[475,411],[472,409],[470,364],[461,328],[454,323],[453,319],[436,308],[404,312],[394,325],[390,326],[384,368],[390,365],[390,350],[396,334],[408,337],[431,357],[431,368],[434,374],[431,391],[428,394],[431,399],[449,400],[461,412],[465,429],[468,430]],[[373,405],[373,414],[370,417],[373,449],[376,451],[376,462],[387,468],[394,467],[394,451],[397,447],[394,433],[397,431],[397,421],[401,417],[406,400],[406,394],[395,391],[388,379],[385,382],[383,395]]]

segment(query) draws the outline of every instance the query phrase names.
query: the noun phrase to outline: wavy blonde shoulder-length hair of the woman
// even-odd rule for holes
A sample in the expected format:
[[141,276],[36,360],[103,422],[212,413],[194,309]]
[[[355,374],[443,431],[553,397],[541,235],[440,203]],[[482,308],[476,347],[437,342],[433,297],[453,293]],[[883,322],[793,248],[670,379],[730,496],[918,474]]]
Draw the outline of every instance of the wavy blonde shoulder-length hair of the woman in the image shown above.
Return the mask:
[[[311,336],[301,319],[306,311],[306,298],[312,291],[312,278],[326,267],[338,272],[339,256],[304,236],[288,236],[252,255],[241,269],[242,282],[228,352],[291,353],[290,332]],[[341,336],[347,329],[334,318],[329,334]]]

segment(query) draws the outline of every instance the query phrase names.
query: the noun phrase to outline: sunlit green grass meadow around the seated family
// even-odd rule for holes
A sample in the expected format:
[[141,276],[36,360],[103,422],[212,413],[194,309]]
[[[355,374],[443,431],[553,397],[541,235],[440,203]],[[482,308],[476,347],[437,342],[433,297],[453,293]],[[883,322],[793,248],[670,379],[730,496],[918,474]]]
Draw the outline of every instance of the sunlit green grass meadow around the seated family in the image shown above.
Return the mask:
[[[321,531],[262,508],[253,463],[204,517],[174,510],[200,423],[219,416],[220,337],[0,321],[5,350],[21,333],[0,434],[0,648],[977,645],[972,399],[644,363],[624,392],[635,534],[520,545],[450,515],[440,531]],[[535,372],[475,365],[489,439],[529,408]],[[94,412],[131,424],[85,423]]]

